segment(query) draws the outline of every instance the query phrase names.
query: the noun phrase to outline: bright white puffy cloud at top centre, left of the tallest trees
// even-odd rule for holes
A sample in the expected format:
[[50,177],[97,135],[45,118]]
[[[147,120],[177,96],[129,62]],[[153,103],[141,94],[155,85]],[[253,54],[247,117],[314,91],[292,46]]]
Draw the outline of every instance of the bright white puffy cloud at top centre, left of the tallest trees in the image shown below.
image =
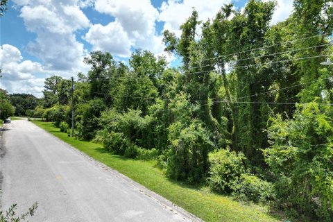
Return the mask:
[[85,40],[94,49],[110,51],[122,57],[130,56],[133,47],[153,53],[163,51],[162,36],[157,35],[155,30],[159,12],[151,1],[96,0],[94,6],[96,11],[115,18],[106,26],[96,24],[89,29]]

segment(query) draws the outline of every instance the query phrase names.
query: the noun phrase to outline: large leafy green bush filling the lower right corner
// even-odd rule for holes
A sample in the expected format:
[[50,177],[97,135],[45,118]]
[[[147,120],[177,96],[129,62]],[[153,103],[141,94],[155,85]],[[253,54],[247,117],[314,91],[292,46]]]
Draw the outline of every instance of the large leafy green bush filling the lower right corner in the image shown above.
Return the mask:
[[264,151],[275,173],[278,203],[313,220],[333,218],[332,108],[318,103],[298,105],[293,119],[271,117]]

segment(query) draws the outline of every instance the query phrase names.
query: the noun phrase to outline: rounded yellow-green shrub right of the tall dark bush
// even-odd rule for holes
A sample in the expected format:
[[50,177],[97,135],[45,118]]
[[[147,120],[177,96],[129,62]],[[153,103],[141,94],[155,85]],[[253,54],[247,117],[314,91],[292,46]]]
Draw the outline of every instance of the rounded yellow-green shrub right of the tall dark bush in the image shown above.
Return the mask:
[[228,149],[221,149],[210,153],[210,178],[208,182],[210,189],[219,193],[229,193],[232,186],[240,180],[246,172],[244,153],[236,153]]

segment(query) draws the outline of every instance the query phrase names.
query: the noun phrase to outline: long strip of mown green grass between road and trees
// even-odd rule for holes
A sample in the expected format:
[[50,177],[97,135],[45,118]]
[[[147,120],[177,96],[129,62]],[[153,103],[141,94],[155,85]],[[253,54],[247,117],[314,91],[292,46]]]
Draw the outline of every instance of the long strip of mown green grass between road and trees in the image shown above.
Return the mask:
[[106,152],[100,144],[80,141],[68,137],[65,133],[60,133],[60,130],[52,123],[32,122],[204,221],[281,221],[278,216],[269,214],[266,207],[238,203],[228,196],[213,194],[207,187],[192,187],[182,182],[169,180],[160,169],[155,167],[153,161],[144,162],[112,155]]

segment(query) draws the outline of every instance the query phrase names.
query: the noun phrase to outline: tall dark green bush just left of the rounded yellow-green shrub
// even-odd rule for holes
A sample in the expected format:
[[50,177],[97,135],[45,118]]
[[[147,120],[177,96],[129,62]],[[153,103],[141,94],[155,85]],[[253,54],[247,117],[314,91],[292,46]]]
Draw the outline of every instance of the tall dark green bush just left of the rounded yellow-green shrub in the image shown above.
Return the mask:
[[203,123],[194,119],[189,126],[180,121],[169,126],[170,148],[167,175],[189,183],[201,182],[208,171],[208,153],[214,148],[211,135]]

